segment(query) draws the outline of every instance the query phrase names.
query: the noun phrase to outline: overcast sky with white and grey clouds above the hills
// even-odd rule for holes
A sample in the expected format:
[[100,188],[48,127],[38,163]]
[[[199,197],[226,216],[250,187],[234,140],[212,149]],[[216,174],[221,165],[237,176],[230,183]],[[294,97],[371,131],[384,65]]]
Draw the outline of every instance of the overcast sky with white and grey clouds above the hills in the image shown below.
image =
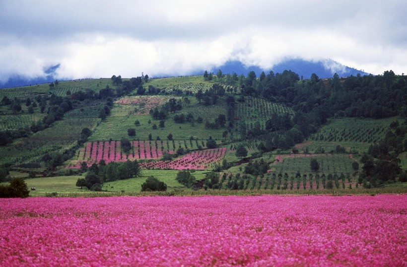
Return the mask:
[[0,0],[0,82],[332,59],[407,73],[406,0]]

